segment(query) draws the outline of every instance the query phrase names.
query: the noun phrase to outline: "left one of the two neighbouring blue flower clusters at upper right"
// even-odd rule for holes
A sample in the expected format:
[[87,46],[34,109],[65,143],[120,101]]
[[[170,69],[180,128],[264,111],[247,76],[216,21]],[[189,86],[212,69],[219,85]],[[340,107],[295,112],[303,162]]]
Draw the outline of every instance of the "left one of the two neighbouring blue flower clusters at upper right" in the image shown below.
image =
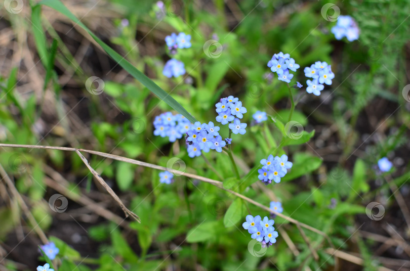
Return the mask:
[[300,68],[299,64],[296,64],[289,54],[283,54],[282,52],[273,55],[268,62],[268,67],[271,71],[277,73],[279,80],[286,83],[290,83],[293,78],[293,74],[289,73],[289,70],[296,71]]

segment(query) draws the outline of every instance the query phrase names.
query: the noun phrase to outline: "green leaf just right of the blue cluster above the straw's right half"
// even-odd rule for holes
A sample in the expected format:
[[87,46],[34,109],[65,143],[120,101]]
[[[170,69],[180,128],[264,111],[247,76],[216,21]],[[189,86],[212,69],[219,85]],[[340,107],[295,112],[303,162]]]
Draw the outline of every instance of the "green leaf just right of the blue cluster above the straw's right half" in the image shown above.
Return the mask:
[[319,168],[322,164],[322,160],[320,158],[307,153],[295,154],[294,161],[291,162],[293,162],[291,170],[286,173],[283,178],[281,178],[284,182],[312,172],[313,170]]

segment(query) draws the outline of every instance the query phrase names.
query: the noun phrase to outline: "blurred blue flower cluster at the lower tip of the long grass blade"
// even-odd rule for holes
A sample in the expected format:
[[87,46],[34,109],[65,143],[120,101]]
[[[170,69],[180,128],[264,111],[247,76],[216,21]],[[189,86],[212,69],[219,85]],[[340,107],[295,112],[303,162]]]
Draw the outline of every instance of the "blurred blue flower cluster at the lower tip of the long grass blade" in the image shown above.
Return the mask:
[[165,112],[155,117],[154,127],[155,136],[169,137],[170,142],[175,142],[191,128],[191,123],[181,114],[173,115],[171,112]]

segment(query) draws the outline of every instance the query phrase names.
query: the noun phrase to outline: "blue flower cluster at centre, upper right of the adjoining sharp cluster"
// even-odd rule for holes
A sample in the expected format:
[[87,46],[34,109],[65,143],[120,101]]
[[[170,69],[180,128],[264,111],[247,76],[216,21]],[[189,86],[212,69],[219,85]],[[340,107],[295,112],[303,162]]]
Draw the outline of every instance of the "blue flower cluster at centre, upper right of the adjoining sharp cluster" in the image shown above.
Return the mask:
[[[229,123],[228,125],[233,133],[244,134],[247,132],[245,128],[248,124],[241,123],[240,119],[243,118],[243,114],[248,111],[242,106],[242,102],[240,102],[238,98],[233,96],[222,98],[215,106],[216,112],[218,113],[218,116],[216,117],[218,122],[225,125],[228,124],[228,122],[233,121],[233,123]],[[228,144],[230,144],[230,142]]]

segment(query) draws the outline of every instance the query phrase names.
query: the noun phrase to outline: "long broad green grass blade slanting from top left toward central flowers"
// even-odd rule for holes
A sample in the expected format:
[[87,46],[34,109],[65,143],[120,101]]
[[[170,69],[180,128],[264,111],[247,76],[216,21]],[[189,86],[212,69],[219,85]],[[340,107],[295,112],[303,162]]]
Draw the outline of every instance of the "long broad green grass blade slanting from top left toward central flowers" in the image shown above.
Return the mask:
[[169,106],[173,109],[181,113],[191,122],[195,122],[196,119],[188,113],[174,98],[172,98],[168,93],[163,91],[157,84],[155,84],[151,79],[149,79],[145,74],[140,72],[137,68],[135,68],[128,60],[121,57],[117,52],[115,52],[111,47],[109,47],[106,43],[104,43],[101,39],[99,39],[86,25],[84,25],[77,17],[75,17],[59,0],[43,0],[39,3],[39,5],[45,5],[56,11],[62,13],[63,15],[67,16],[70,20],[72,20],[75,24],[82,27],[86,30],[91,37],[97,41],[97,43],[102,47],[102,49],[114,60],[116,61],[122,68],[124,68],[127,72],[129,72],[135,79],[140,81],[143,85],[145,85],[153,94],[158,96],[159,99],[166,102]]

